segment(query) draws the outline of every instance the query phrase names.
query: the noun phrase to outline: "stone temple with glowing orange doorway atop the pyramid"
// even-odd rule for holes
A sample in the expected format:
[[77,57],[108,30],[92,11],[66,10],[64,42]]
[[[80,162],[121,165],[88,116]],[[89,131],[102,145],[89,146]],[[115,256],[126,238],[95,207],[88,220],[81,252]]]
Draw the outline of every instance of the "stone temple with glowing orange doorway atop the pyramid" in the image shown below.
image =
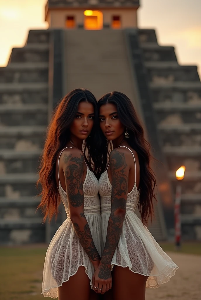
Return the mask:
[[49,28],[101,30],[137,27],[139,0],[48,0]]

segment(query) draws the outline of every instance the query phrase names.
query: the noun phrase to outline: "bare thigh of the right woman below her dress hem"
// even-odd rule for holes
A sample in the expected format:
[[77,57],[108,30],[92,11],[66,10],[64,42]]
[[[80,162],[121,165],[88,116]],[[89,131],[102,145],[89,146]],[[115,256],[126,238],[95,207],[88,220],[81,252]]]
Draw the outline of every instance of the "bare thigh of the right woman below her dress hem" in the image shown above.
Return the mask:
[[133,273],[129,268],[114,266],[112,276],[113,299],[144,300],[148,276]]

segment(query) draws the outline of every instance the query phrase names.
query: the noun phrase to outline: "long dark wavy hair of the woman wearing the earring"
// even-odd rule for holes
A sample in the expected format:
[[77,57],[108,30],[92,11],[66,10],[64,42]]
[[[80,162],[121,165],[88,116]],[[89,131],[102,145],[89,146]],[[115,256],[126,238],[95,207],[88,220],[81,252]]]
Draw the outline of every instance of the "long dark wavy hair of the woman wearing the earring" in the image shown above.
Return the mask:
[[[135,112],[132,102],[123,93],[113,91],[103,95],[98,101],[98,110],[103,104],[112,103],[117,107],[118,117],[121,123],[128,129],[129,138],[127,142],[137,154],[140,164],[140,196],[138,209],[141,214],[143,224],[148,223],[149,217],[153,217],[153,205],[156,200],[156,176],[150,167],[152,156],[150,154],[150,144],[144,138],[144,130]],[[100,132],[101,143],[98,147],[101,152],[102,166],[100,173],[103,173],[108,163],[108,141]]]

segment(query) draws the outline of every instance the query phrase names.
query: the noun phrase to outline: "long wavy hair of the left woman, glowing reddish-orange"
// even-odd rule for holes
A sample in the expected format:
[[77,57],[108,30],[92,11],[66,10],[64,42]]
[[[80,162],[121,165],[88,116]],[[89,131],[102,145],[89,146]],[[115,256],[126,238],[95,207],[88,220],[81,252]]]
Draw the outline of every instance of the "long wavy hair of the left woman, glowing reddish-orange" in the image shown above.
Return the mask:
[[[84,143],[84,156],[86,163],[94,173],[100,173],[100,154],[96,147],[98,138],[98,109],[94,95],[87,89],[77,88],[68,93],[57,105],[48,126],[44,151],[39,166],[39,180],[37,187],[41,186],[42,200],[38,208],[44,213],[44,221],[57,216],[60,197],[56,183],[56,161],[58,153],[66,146],[70,139],[70,125],[74,120],[80,102],[89,102],[94,107],[94,126],[90,137]],[[86,150],[87,153],[86,153]]]

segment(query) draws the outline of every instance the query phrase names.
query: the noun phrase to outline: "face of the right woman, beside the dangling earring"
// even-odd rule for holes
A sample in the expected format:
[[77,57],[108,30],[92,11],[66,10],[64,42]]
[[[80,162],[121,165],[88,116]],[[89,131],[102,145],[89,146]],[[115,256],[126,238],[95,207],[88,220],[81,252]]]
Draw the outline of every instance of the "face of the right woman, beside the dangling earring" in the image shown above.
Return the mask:
[[107,140],[112,141],[124,134],[124,125],[120,122],[115,104],[107,103],[100,107],[100,128]]

